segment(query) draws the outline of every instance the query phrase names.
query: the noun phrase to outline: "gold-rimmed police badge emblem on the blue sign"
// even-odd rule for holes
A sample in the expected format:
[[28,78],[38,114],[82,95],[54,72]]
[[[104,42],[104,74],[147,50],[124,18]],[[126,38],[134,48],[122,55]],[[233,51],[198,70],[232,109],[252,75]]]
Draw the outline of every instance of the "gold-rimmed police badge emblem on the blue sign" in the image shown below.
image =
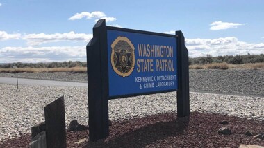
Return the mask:
[[113,70],[122,77],[129,76],[135,66],[135,47],[127,37],[117,37],[111,47]]

